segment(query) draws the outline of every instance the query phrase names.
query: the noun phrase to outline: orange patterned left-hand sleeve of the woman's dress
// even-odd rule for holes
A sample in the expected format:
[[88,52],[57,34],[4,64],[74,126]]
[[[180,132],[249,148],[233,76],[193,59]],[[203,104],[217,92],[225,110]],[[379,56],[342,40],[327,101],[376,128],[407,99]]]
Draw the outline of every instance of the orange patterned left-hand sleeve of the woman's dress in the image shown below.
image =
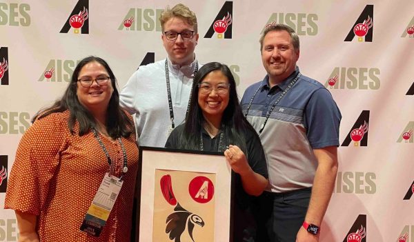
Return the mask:
[[68,121],[61,114],[39,119],[23,134],[10,171],[4,208],[39,215],[66,145]]

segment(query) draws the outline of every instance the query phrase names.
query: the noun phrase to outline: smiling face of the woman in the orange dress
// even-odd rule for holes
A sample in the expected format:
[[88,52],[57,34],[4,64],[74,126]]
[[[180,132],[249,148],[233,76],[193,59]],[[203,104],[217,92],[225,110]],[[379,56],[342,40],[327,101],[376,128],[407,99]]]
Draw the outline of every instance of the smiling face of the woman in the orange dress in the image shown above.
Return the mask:
[[79,79],[93,79],[92,85],[89,88],[85,88],[77,81],[77,97],[79,102],[90,112],[98,110],[106,110],[112,92],[111,80],[106,85],[99,85],[96,81],[98,77],[109,77],[105,67],[97,61],[92,61],[83,65],[79,72]]

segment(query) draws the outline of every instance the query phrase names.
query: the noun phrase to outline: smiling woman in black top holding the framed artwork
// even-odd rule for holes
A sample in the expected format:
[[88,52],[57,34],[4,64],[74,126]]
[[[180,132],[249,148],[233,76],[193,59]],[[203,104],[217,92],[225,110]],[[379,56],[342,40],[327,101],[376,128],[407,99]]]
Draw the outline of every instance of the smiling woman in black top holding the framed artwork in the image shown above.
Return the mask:
[[262,194],[268,172],[262,143],[239,106],[227,65],[203,65],[194,78],[186,122],[172,130],[166,148],[224,152],[236,173],[234,241],[254,237],[250,196]]

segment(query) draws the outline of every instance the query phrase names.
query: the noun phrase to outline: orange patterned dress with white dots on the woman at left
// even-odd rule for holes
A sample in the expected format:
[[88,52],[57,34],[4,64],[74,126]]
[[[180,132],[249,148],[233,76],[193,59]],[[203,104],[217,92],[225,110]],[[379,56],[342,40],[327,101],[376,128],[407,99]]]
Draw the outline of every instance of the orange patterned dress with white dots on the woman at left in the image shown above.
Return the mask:
[[[129,114],[128,114],[129,115]],[[122,138],[128,172],[99,237],[79,230],[109,165],[94,134],[79,137],[68,129],[69,112],[39,119],[23,135],[14,160],[5,208],[37,215],[41,241],[130,241],[132,203],[137,174],[135,134]],[[124,157],[119,141],[99,134],[121,176]]]

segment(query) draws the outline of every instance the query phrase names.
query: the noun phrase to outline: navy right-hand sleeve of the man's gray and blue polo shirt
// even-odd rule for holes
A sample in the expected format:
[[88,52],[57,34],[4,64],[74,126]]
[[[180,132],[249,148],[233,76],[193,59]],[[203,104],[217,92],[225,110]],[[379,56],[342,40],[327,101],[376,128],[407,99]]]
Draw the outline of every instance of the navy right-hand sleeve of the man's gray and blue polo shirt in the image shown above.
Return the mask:
[[339,123],[342,115],[331,92],[319,88],[305,108],[304,125],[313,149],[339,145]]

